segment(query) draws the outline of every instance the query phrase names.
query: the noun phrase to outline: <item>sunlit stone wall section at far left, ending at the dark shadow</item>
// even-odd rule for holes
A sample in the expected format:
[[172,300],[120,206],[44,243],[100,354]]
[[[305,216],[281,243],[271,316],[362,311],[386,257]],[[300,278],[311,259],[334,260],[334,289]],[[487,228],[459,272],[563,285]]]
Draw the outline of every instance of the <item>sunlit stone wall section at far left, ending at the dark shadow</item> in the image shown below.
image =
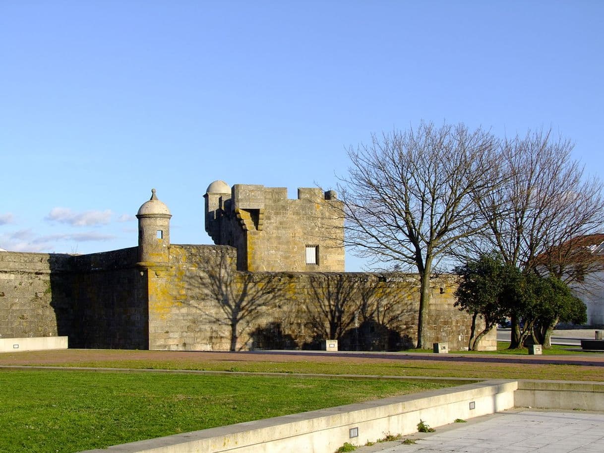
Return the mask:
[[66,272],[71,255],[0,252],[0,337],[56,336],[51,272]]

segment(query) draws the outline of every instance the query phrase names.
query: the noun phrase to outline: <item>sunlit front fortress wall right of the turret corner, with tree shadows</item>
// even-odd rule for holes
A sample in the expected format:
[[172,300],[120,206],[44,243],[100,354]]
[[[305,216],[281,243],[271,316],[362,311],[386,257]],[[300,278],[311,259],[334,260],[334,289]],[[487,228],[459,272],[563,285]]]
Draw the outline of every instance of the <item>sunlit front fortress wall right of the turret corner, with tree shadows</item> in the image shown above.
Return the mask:
[[[329,338],[341,350],[396,350],[417,341],[413,276],[237,272],[226,246],[171,246],[170,255],[171,266],[149,269],[150,349],[318,349]],[[451,278],[434,280],[428,329],[461,349],[470,318],[452,291]]]

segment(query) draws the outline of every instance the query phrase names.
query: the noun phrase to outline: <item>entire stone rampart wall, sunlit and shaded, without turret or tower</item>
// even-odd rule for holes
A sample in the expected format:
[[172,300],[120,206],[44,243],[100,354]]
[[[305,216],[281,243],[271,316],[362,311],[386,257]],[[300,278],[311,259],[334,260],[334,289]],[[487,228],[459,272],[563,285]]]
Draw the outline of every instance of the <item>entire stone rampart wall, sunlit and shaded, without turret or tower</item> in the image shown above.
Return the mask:
[[[413,275],[237,271],[230,246],[171,245],[165,263],[138,248],[90,255],[0,252],[2,338],[69,337],[76,348],[399,350],[416,343]],[[432,281],[428,333],[463,349],[469,316],[454,280]],[[492,338],[491,338],[492,337]],[[485,346],[495,345],[494,335]]]

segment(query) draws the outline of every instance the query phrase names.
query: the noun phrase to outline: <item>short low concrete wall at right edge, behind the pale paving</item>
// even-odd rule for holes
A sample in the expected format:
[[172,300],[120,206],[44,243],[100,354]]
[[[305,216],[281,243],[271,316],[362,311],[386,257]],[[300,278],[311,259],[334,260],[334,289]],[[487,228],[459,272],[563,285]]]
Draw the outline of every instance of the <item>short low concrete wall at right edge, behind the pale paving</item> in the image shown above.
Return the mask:
[[519,381],[514,394],[518,407],[602,411],[604,382]]

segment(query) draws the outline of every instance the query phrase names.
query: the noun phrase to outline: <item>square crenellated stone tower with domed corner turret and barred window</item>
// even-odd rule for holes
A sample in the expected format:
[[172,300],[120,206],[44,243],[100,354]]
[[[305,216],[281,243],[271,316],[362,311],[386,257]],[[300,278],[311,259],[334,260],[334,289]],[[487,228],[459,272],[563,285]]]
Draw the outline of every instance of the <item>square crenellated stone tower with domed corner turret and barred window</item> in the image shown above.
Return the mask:
[[245,271],[344,271],[344,217],[333,190],[235,184],[208,186],[205,231],[216,245],[237,248]]

